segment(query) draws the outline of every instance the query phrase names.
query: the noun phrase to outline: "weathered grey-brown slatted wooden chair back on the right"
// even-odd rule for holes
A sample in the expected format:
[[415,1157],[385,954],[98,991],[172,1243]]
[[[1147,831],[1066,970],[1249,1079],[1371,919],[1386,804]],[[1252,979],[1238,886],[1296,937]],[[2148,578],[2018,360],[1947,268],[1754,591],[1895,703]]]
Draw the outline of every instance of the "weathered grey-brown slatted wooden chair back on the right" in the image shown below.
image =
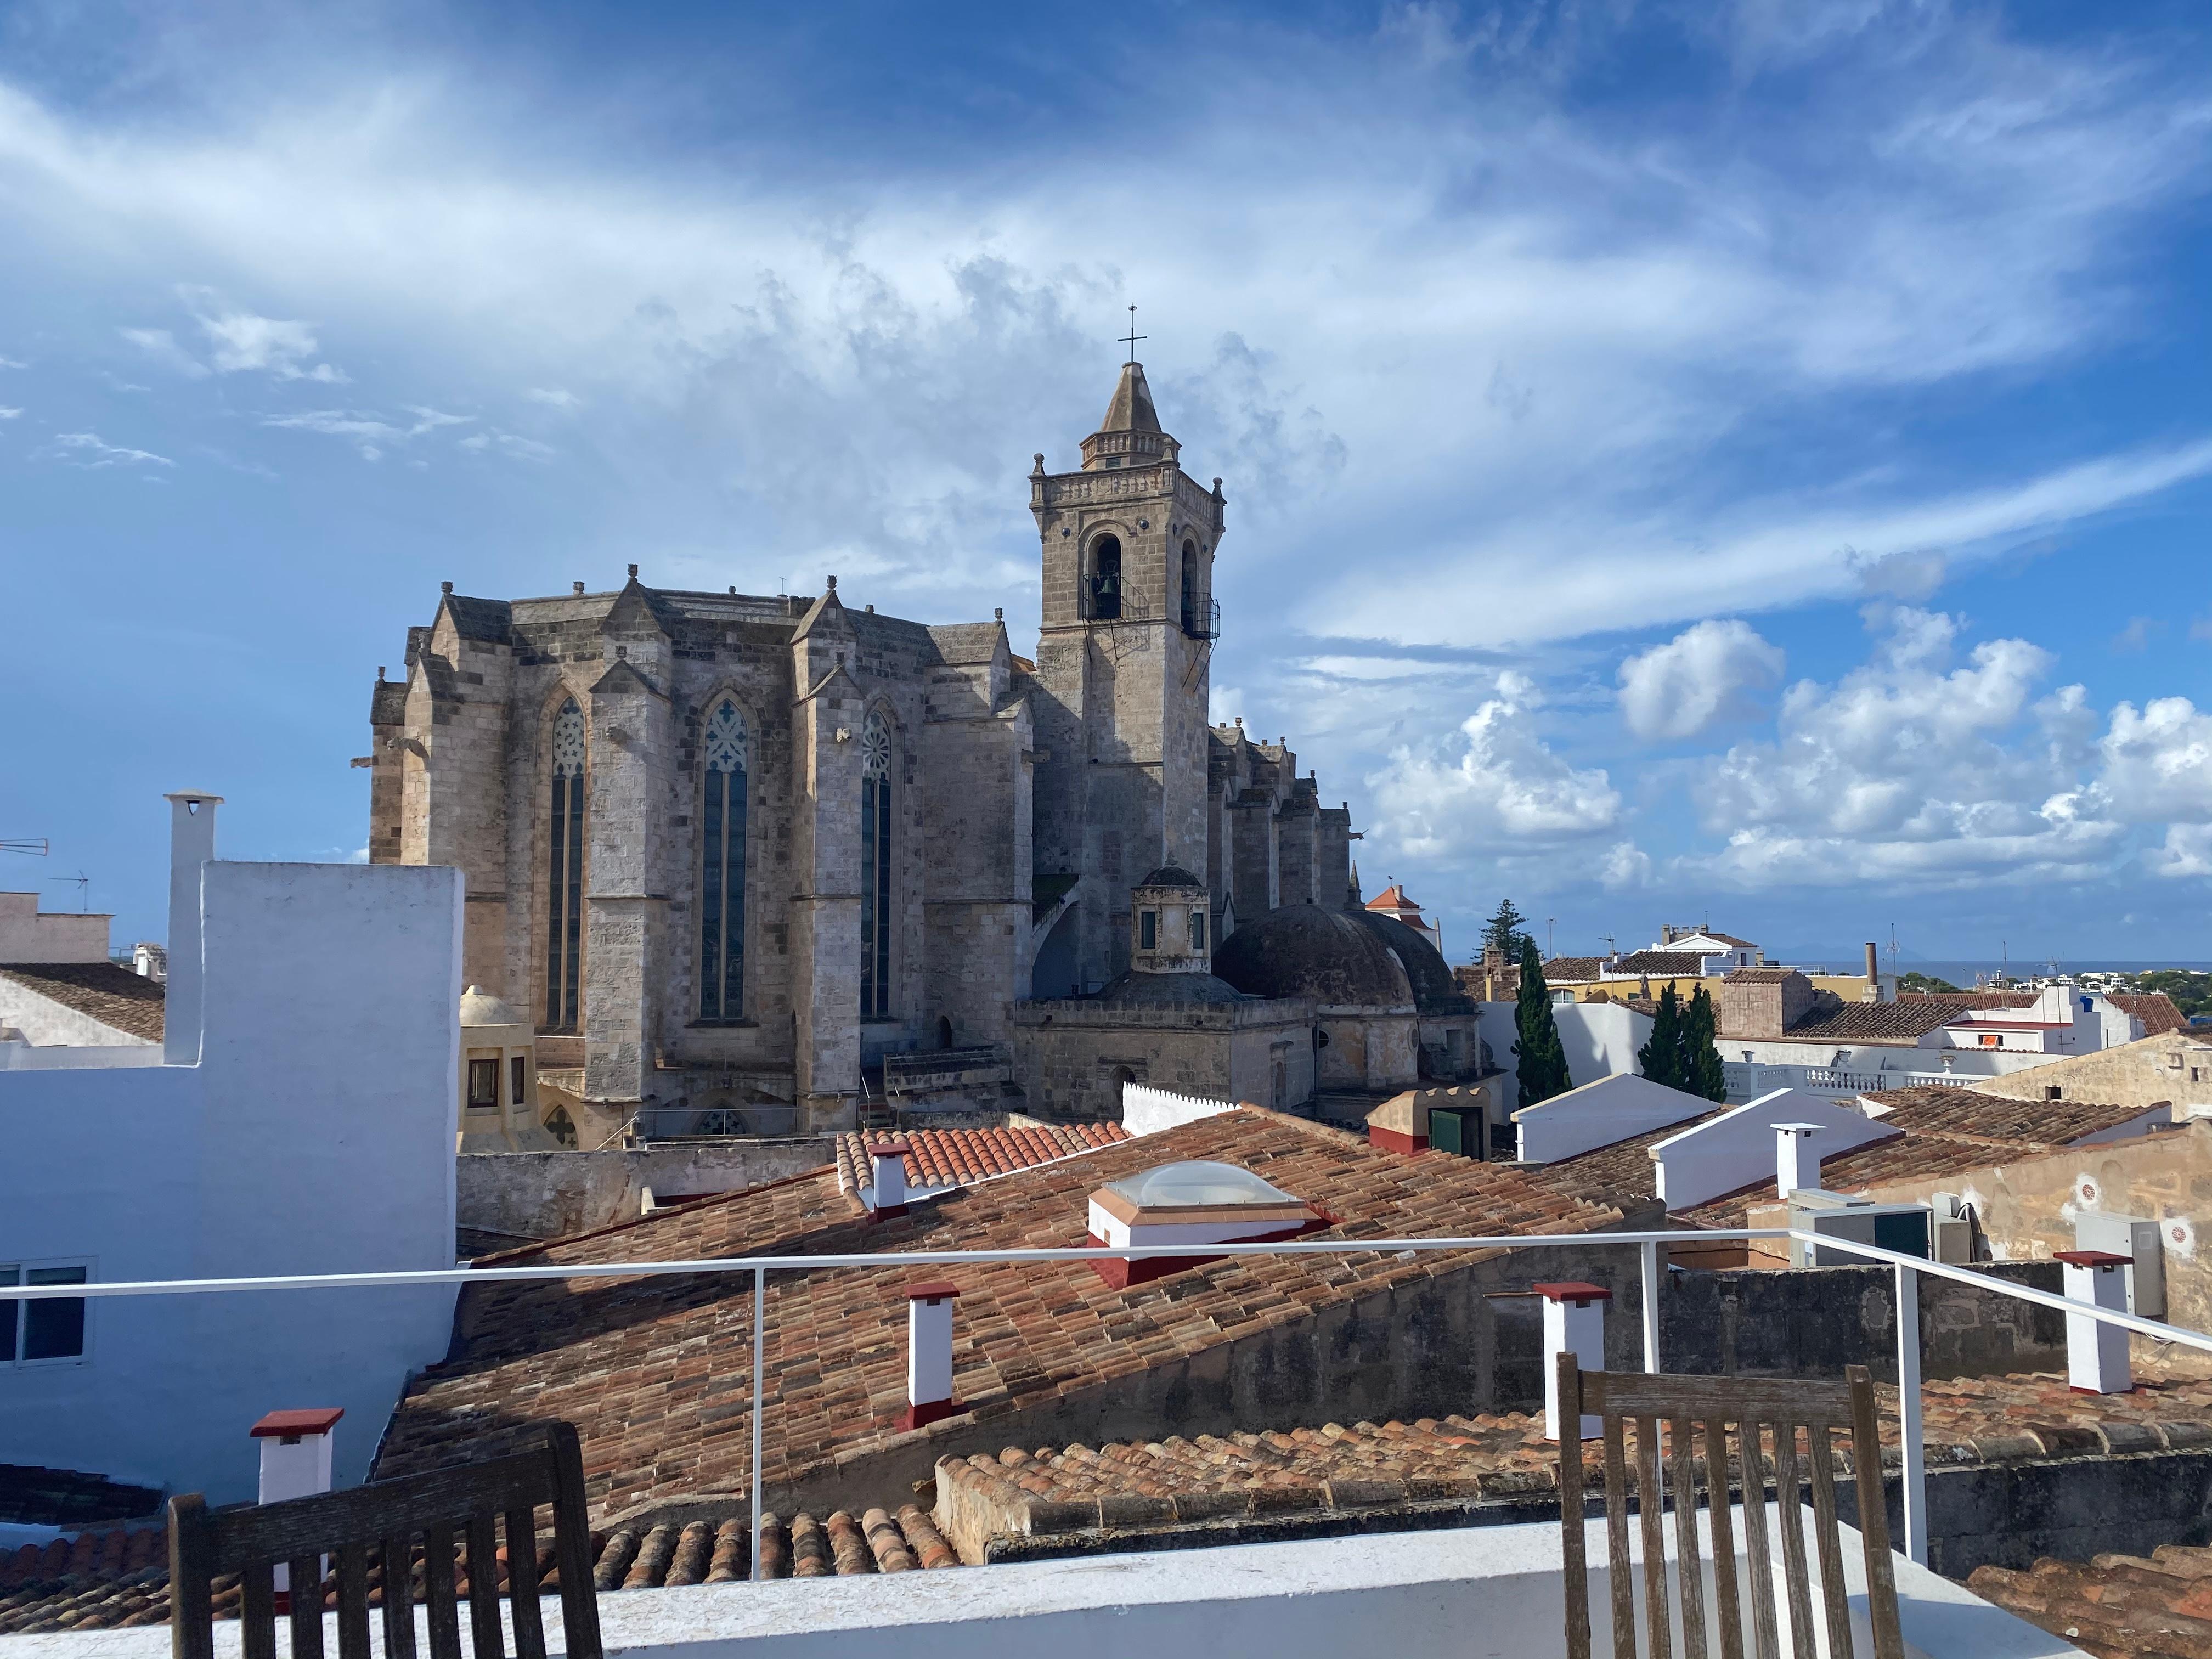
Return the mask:
[[[1566,1562],[1566,1652],[1590,1659],[1590,1566],[1584,1551],[1582,1418],[1601,1425],[1606,1491],[1606,1566],[1613,1593],[1615,1659],[1637,1659],[1637,1595],[1628,1562],[1628,1422],[1635,1422],[1635,1495],[1644,1535],[1644,1624],[1650,1659],[1672,1659],[1666,1573],[1666,1498],[1674,1500],[1674,1586],[1683,1659],[1710,1659],[1708,1630],[1721,1659],[1743,1657],[1743,1597],[1736,1584],[1736,1524],[1730,1484],[1743,1493],[1743,1553],[1750,1579],[1754,1659],[1781,1659],[1774,1617],[1774,1564],[1767,1546],[1765,1493],[1772,1473],[1781,1511],[1783,1586],[1790,1606],[1792,1659],[1816,1659],[1812,1573],[1805,1559],[1805,1489],[1812,1489],[1814,1546],[1820,1557],[1820,1604],[1832,1659],[1851,1655],[1851,1617],[1843,1593],[1843,1535],[1836,1522],[1834,1438],[1851,1447],[1858,1486],[1858,1533],[1867,1559],[1874,1659],[1905,1659],[1898,1632],[1898,1584],[1889,1559],[1889,1515],[1882,1506],[1882,1442],[1874,1420],[1874,1380],[1865,1365],[1843,1383],[1741,1376],[1666,1376],[1584,1371],[1559,1356],[1559,1526]],[[1663,1431],[1661,1431],[1663,1425]],[[1734,1431],[1734,1453],[1730,1453]],[[1798,1436],[1803,1433],[1803,1449]],[[1703,1440],[1703,1458],[1694,1440]],[[1663,1460],[1661,1460],[1663,1440]],[[1666,1473],[1661,1475],[1661,1462]],[[1697,1542],[1697,1489],[1705,1471],[1712,1526],[1714,1619],[1705,1619],[1705,1573]]]

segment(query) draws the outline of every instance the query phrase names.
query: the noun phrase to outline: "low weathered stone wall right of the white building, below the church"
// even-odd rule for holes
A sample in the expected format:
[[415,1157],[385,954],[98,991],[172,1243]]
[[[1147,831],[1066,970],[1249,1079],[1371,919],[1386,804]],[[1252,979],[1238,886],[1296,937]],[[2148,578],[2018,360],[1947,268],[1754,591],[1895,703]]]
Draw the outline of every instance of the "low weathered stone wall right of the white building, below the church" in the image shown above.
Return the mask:
[[606,1152],[471,1152],[453,1159],[453,1210],[462,1228],[557,1239],[635,1221],[646,1188],[657,1197],[739,1192],[818,1170],[834,1157],[825,1135]]

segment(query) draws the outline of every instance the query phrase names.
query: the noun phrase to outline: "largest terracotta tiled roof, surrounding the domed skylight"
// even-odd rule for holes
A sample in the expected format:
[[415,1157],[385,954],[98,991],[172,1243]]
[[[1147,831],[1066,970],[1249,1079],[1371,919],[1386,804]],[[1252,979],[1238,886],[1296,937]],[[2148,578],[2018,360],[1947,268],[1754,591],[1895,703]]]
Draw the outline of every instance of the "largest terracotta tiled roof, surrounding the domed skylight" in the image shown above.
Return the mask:
[[[902,1250],[1082,1245],[1086,1199],[1177,1159],[1239,1164],[1338,1221],[1318,1237],[1582,1232],[1617,1221],[1502,1164],[1398,1157],[1365,1137],[1237,1108],[1079,1159],[958,1188],[905,1217],[865,1217],[821,1170],[553,1241],[498,1261],[606,1263],[885,1252],[876,1270],[776,1274],[765,1332],[765,1464],[796,1480],[830,1458],[927,1447],[940,1431],[1055,1396],[1106,1389],[1400,1281],[1486,1259],[1223,1259],[1110,1290],[1088,1263],[929,1267],[960,1290],[953,1391],[969,1413],[900,1431],[907,1405]],[[752,1303],[745,1274],[493,1283],[462,1292],[453,1356],[416,1378],[385,1436],[380,1475],[495,1455],[529,1425],[575,1422],[602,1513],[750,1478]]]

